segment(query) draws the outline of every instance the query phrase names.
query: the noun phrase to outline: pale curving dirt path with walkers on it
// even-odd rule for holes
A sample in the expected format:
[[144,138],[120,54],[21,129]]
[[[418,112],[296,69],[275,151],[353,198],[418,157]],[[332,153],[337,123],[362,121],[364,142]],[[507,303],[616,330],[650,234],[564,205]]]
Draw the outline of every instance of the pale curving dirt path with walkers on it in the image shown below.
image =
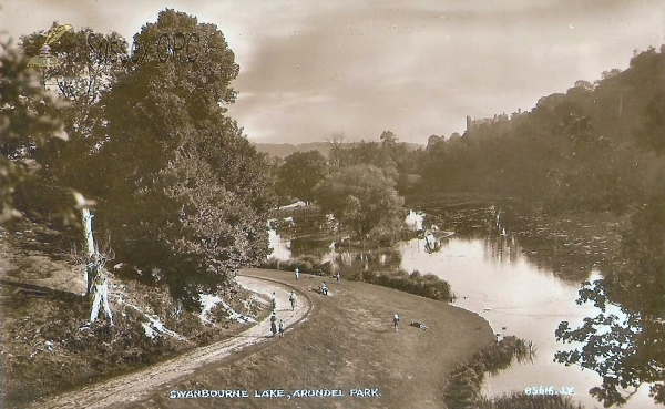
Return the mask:
[[[309,313],[310,306],[306,304],[306,297],[301,295],[298,297],[295,310],[291,311],[288,303],[290,288],[284,285],[242,276],[237,277],[237,282],[243,287],[266,296],[275,292],[277,296],[277,317],[284,318],[287,331]],[[37,402],[33,407],[52,409],[104,408],[110,405],[135,402],[151,395],[155,388],[175,382],[207,364],[223,360],[244,347],[270,339],[269,335],[269,321],[266,318],[250,329],[234,336],[233,339],[197,348],[183,356],[134,374],[92,385],[43,402]]]

